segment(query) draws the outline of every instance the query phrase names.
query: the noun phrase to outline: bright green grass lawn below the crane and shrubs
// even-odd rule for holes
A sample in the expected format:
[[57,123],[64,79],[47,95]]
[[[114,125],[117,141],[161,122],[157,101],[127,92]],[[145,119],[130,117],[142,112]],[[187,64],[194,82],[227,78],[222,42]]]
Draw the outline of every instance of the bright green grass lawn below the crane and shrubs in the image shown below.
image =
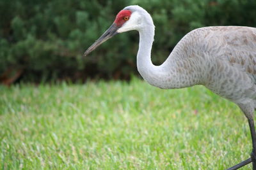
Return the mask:
[[244,115],[202,86],[134,78],[0,95],[0,169],[225,169],[250,157]]

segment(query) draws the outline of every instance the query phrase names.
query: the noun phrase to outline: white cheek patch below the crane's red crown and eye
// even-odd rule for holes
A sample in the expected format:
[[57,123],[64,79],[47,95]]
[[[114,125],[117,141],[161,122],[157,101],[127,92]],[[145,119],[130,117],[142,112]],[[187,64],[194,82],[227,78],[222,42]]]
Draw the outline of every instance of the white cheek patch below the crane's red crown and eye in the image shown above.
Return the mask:
[[132,13],[131,17],[127,22],[125,22],[120,29],[118,29],[116,32],[121,33],[121,32],[126,32],[126,31],[131,31],[131,30],[137,30],[139,26],[139,20],[140,20],[140,15],[138,12]]

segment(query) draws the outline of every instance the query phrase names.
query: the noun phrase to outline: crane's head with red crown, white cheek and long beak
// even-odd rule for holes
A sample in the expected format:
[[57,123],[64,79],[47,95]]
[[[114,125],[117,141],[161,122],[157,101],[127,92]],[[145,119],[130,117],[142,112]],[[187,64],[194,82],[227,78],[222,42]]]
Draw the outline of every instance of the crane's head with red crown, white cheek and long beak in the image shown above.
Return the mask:
[[141,31],[148,27],[154,29],[150,14],[138,5],[127,6],[116,15],[116,19],[109,29],[84,52],[84,56],[118,33],[131,30]]

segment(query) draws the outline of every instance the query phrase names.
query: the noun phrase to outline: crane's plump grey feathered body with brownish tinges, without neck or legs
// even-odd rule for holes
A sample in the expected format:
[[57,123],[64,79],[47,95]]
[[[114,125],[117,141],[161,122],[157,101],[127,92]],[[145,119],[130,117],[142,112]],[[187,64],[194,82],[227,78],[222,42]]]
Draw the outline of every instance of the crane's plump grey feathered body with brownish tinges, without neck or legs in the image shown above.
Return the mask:
[[256,108],[256,29],[253,27],[195,29],[175,46],[163,64],[165,69],[168,66],[175,67],[170,71],[179,75],[175,76],[177,81],[172,88],[184,84],[205,85],[238,104],[244,112]]

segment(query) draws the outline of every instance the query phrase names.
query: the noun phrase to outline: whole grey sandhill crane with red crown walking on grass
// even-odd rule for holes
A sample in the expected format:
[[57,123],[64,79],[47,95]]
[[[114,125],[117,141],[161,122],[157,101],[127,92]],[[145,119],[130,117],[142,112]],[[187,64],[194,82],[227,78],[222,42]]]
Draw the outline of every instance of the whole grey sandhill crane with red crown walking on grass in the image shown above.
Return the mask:
[[137,69],[150,85],[161,89],[180,89],[204,85],[237,104],[248,119],[252,138],[250,158],[228,168],[238,169],[252,162],[256,170],[256,28],[209,26],[188,32],[159,66],[152,64],[151,50],[155,26],[150,14],[138,5],[121,10],[113,24],[83,56],[116,34],[136,30],[140,35]]

